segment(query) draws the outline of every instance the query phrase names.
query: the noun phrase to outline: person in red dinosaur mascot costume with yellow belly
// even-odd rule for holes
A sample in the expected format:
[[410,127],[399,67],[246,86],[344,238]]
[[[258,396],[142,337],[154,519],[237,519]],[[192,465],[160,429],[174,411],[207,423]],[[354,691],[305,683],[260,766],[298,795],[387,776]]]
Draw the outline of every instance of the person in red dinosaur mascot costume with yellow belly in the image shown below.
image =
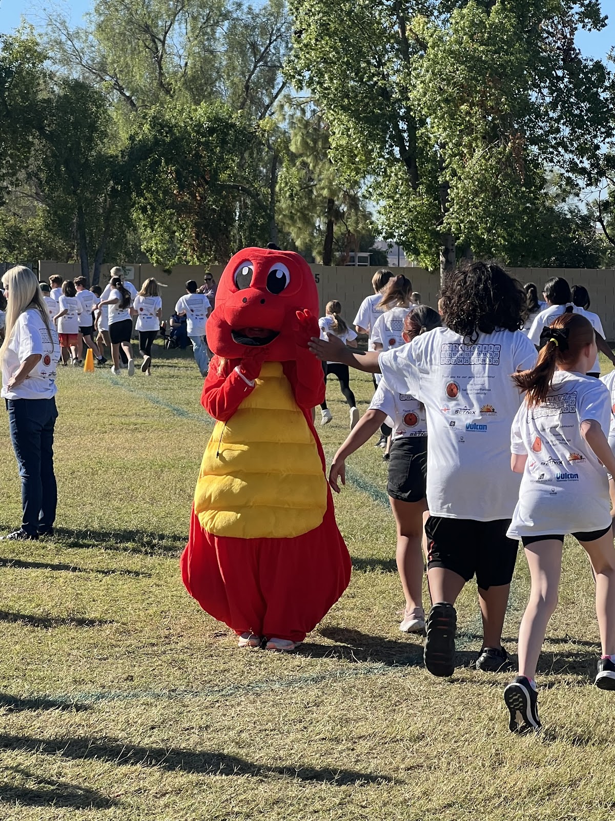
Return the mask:
[[189,594],[239,647],[292,650],[348,587],[312,408],[325,395],[318,294],[298,254],[247,248],[231,259],[207,320],[214,356],[201,403],[218,420],[198,475]]

